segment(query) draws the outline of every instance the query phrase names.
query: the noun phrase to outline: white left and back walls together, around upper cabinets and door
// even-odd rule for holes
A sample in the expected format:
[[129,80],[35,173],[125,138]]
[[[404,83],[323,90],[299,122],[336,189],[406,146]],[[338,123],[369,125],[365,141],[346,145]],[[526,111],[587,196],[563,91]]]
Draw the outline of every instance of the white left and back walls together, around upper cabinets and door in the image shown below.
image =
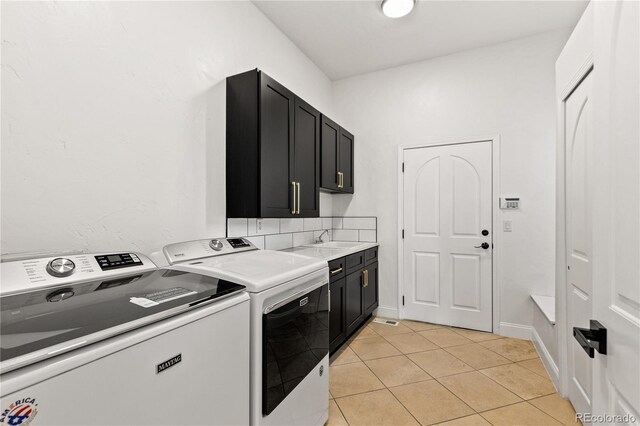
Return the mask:
[[379,217],[391,309],[397,145],[499,133],[502,193],[523,199],[505,214],[501,319],[530,323],[529,293],[553,294],[553,64],[568,31],[332,84],[251,3],[184,5],[2,2],[3,253],[224,235],[224,78],[259,67],[356,134],[356,194],[322,194],[321,214]]

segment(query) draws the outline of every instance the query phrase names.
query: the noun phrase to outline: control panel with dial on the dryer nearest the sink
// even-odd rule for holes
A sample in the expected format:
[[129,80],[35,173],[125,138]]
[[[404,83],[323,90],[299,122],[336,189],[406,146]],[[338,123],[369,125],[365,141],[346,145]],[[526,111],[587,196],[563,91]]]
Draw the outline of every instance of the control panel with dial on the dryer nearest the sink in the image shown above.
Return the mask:
[[258,250],[258,248],[246,238],[185,241],[184,243],[169,244],[162,249],[170,265],[248,250]]

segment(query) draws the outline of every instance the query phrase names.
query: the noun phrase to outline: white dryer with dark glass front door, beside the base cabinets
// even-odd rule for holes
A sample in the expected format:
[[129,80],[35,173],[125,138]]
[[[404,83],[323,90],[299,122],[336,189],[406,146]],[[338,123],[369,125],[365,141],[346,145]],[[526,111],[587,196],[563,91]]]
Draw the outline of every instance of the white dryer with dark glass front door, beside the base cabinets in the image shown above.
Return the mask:
[[324,425],[329,416],[326,261],[243,238],[171,244],[171,268],[237,282],[251,299],[251,424]]

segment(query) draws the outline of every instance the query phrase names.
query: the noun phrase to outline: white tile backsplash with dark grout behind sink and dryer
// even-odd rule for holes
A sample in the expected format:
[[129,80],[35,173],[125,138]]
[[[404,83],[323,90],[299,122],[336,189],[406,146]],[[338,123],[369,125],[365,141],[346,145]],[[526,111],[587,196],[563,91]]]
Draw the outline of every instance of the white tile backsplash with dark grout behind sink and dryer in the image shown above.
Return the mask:
[[325,230],[325,241],[377,241],[375,216],[310,217],[281,219],[227,219],[228,237],[245,237],[256,247],[282,250],[313,244]]

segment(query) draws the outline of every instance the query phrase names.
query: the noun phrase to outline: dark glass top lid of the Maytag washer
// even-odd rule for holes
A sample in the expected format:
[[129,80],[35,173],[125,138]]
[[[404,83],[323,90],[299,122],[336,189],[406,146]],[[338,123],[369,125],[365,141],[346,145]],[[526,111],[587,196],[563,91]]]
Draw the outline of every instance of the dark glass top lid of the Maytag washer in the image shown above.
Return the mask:
[[[156,270],[0,297],[0,372],[241,292],[210,276]],[[20,360],[20,361],[19,361]]]

